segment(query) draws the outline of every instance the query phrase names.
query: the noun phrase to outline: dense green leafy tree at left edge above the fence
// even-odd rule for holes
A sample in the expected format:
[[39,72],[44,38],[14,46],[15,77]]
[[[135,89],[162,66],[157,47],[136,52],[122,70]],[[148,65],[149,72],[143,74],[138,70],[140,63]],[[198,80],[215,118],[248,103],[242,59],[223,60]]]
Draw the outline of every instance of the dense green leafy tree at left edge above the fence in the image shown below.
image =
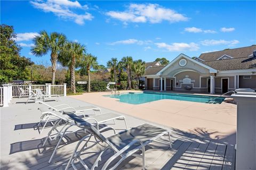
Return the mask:
[[30,58],[20,56],[20,46],[15,42],[12,26],[1,24],[0,37],[0,82],[13,79],[28,79],[26,67],[32,65]]

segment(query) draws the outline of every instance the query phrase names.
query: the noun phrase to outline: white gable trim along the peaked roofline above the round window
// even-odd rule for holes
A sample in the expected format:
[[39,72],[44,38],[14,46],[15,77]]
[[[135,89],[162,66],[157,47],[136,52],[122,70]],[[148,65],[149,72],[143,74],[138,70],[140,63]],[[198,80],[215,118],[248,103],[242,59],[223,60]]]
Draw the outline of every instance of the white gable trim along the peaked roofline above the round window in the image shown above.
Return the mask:
[[196,63],[196,64],[198,64],[198,65],[201,65],[201,66],[205,67],[206,69],[209,69],[210,73],[217,73],[217,72],[218,72],[217,70],[213,69],[212,67],[209,67],[209,66],[207,66],[207,65],[205,65],[205,64],[203,64],[203,63],[201,63],[201,62],[195,61],[194,59],[190,58],[189,56],[187,56],[187,55],[181,53],[181,54],[178,55],[176,58],[174,58],[173,61],[171,61],[169,64],[167,64],[165,67],[163,67],[162,70],[160,70],[158,73],[156,73],[156,75],[161,75],[163,71],[165,71],[165,70],[166,70],[167,68],[169,68],[173,63],[175,63],[176,61],[178,61],[179,58],[181,58],[181,57],[184,57],[184,58],[186,58],[187,60],[189,60],[189,61],[191,61],[191,62],[194,62],[194,63]]

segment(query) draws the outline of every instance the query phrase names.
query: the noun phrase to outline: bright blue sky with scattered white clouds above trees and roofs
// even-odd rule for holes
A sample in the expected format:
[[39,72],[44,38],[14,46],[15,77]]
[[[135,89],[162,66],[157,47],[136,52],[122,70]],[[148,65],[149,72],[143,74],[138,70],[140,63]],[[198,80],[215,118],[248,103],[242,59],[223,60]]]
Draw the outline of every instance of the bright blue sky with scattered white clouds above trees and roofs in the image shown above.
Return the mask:
[[13,25],[21,55],[40,30],[65,33],[105,65],[111,57],[173,60],[256,44],[255,1],[1,1],[1,24]]

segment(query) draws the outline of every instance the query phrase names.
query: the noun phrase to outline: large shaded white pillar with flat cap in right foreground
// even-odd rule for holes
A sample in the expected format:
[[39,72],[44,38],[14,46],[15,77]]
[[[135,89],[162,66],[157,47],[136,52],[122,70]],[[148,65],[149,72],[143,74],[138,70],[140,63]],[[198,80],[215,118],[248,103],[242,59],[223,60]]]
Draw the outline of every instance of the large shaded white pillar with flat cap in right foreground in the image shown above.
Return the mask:
[[236,169],[256,169],[256,92],[231,97],[237,101]]

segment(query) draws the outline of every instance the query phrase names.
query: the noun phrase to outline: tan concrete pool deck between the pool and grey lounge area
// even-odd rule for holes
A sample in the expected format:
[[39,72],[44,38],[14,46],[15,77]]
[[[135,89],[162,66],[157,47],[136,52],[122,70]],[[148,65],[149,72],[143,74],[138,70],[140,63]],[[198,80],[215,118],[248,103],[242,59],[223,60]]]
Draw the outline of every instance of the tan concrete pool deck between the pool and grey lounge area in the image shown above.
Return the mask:
[[[121,91],[139,92],[139,91]],[[158,123],[167,127],[236,143],[236,105],[205,104],[191,101],[163,99],[150,103],[132,105],[116,98],[105,97],[111,92],[91,92],[69,96],[116,112]],[[202,94],[201,94],[202,95]]]

